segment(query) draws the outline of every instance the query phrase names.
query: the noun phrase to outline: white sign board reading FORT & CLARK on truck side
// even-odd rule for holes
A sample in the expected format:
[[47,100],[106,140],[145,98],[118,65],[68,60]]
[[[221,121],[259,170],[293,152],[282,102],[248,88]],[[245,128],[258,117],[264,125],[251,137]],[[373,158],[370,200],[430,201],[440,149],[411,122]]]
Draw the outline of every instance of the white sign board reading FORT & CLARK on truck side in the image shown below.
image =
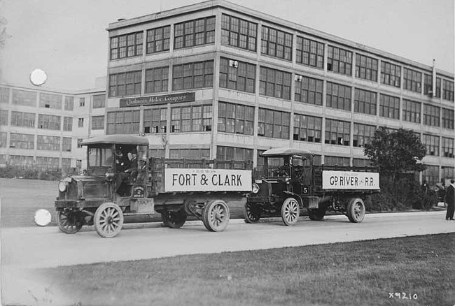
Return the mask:
[[165,191],[251,191],[251,171],[167,168]]

